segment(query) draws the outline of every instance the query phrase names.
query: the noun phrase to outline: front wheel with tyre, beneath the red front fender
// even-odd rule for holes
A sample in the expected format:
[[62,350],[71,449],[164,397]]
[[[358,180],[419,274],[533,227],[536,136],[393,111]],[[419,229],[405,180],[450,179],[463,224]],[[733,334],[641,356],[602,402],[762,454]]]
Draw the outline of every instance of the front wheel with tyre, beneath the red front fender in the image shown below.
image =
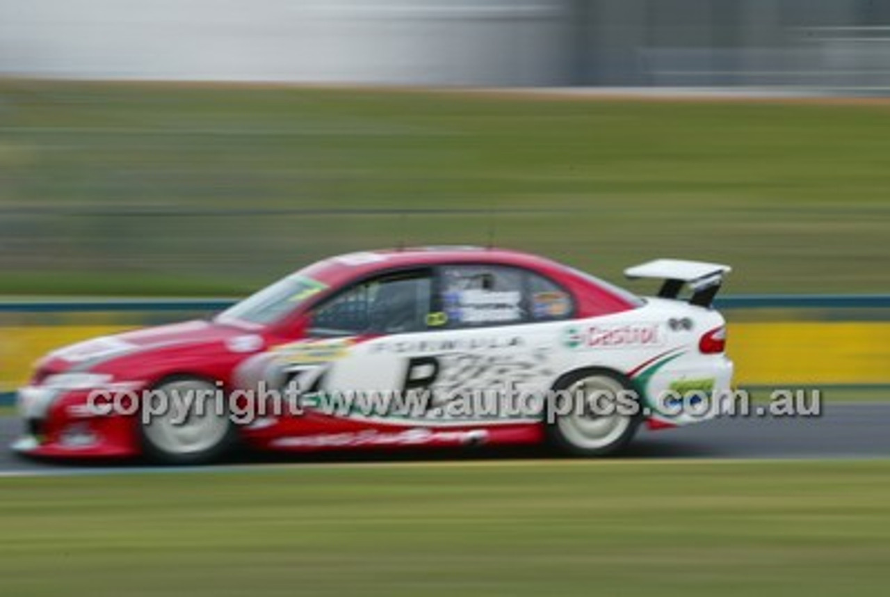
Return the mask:
[[[211,382],[197,377],[175,377],[162,381],[154,392],[166,395],[165,412],[144,416],[142,405],[139,428],[142,452],[151,461],[161,464],[198,465],[215,462],[228,454],[238,439],[238,429],[228,411],[219,412],[215,404],[218,388]],[[186,397],[187,392],[207,392],[203,408],[198,401],[188,413],[179,413],[172,405],[174,392]],[[201,396],[198,394],[198,396]]]

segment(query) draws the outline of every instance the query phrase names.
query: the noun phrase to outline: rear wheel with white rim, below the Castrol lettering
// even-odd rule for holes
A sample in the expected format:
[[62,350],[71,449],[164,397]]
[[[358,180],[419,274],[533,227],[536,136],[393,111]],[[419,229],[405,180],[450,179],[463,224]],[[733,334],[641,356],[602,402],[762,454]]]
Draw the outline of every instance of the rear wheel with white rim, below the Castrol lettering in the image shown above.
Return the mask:
[[[629,386],[619,376],[609,372],[575,372],[560,380],[556,390],[566,390],[570,408],[554,413],[546,421],[550,443],[562,452],[574,456],[607,456],[627,447],[640,425],[638,409],[628,405]],[[582,398],[582,404],[578,404]],[[593,399],[599,406],[592,409]],[[634,403],[635,404],[635,403]],[[554,409],[555,410],[555,409]]]

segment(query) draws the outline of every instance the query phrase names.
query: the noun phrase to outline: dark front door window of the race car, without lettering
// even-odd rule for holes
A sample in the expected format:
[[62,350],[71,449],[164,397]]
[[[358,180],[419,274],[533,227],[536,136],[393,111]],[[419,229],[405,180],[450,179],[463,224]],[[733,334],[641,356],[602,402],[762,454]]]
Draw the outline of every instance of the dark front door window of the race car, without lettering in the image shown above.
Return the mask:
[[354,336],[425,330],[431,288],[427,272],[388,274],[360,282],[316,307],[310,331]]

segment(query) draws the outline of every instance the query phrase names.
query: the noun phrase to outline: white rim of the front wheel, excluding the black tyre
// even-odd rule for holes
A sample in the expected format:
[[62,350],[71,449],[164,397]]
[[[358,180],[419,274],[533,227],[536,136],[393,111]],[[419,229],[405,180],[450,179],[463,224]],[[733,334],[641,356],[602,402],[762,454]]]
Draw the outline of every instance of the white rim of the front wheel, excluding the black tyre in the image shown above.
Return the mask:
[[174,391],[180,396],[187,396],[188,392],[207,392],[203,409],[198,408],[198,400],[192,405],[188,416],[177,412],[173,407],[167,408],[165,413],[155,415],[144,426],[145,437],[151,444],[167,454],[195,454],[204,452],[223,441],[229,430],[229,419],[225,413],[218,413],[213,403],[211,392],[214,386],[205,381],[183,380],[166,384],[158,391],[167,394],[167,404],[173,405],[170,396]]

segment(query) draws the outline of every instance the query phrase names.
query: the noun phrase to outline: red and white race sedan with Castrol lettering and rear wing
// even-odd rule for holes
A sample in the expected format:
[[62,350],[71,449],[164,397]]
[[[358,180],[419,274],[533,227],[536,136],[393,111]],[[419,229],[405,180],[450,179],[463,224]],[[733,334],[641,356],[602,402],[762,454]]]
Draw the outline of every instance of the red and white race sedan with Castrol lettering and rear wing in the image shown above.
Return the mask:
[[714,414],[700,406],[731,384],[724,318],[711,307],[729,269],[635,266],[629,277],[664,281],[658,297],[640,298],[503,249],[328,258],[211,321],[45,356],[20,388],[27,432],[13,447],[172,463],[245,445],[550,443],[612,454],[643,421]]

